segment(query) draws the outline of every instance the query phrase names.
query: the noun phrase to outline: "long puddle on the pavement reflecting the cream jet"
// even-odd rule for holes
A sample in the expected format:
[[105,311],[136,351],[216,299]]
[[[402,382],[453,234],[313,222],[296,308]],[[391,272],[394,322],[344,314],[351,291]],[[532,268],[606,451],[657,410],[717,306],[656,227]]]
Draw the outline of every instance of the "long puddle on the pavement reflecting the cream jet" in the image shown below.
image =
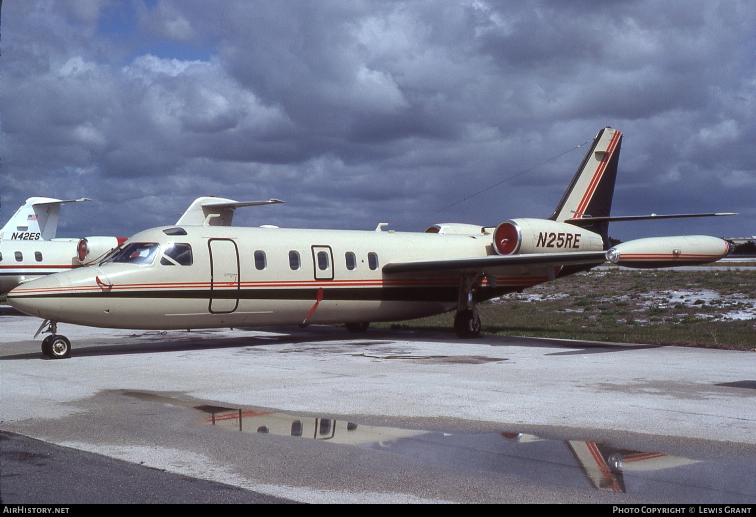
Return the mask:
[[[756,501],[753,461],[692,460],[581,440],[553,440],[520,433],[448,434],[286,413],[197,407],[206,423],[226,430],[297,436],[388,450],[424,463],[500,472],[597,490],[733,503]],[[744,481],[745,480],[745,481]],[[630,488],[628,488],[630,487]]]

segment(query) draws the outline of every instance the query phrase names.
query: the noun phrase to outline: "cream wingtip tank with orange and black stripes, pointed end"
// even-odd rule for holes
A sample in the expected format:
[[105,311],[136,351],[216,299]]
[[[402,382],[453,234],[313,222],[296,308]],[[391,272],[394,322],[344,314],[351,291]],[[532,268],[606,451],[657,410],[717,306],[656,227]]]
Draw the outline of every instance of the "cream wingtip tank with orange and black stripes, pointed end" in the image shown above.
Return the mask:
[[626,268],[673,268],[716,262],[733,249],[726,240],[707,235],[648,237],[620,243],[606,252],[606,258]]

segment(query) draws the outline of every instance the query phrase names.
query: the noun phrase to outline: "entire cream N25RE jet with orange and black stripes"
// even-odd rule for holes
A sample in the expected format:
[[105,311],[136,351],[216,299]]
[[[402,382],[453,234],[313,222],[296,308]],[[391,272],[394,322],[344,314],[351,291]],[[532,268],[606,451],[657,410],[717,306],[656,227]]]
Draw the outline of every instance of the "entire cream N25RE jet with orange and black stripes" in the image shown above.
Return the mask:
[[[435,224],[424,233],[236,228],[238,203],[194,201],[173,226],[136,234],[98,265],[24,283],[8,302],[45,319],[50,358],[70,354],[57,323],[196,329],[407,320],[456,311],[460,337],[478,336],[476,303],[603,264],[632,268],[714,262],[733,246],[706,236],[631,240],[610,249],[621,133],[602,129],[553,215],[496,227]],[[46,328],[45,328],[46,327]]]

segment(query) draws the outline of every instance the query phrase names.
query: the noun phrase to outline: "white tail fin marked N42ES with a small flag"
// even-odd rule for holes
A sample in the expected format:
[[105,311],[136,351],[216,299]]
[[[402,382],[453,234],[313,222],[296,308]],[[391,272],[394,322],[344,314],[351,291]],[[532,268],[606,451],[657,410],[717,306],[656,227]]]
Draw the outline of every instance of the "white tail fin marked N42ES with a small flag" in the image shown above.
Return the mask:
[[0,234],[8,240],[51,240],[57,232],[57,217],[60,205],[91,201],[84,197],[79,200],[55,200],[51,197],[29,197],[16,210]]

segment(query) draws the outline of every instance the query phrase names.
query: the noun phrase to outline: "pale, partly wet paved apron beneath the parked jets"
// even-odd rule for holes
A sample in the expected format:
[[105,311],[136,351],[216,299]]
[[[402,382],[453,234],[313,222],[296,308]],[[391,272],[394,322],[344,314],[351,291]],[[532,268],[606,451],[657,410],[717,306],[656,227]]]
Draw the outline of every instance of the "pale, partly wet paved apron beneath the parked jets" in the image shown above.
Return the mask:
[[4,503],[756,502],[754,352],[0,324]]

